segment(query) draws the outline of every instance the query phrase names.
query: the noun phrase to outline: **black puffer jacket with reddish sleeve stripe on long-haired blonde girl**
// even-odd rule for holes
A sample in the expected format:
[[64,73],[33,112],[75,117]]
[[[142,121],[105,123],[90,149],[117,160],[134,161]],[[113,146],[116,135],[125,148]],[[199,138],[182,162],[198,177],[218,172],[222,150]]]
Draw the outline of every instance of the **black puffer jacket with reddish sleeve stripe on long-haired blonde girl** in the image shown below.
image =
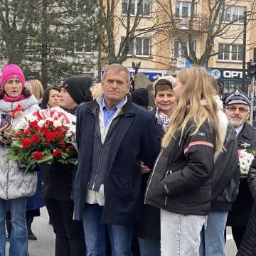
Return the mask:
[[210,212],[216,134],[207,122],[194,131],[189,124],[182,138],[177,131],[176,139],[161,150],[149,177],[146,204],[184,215]]

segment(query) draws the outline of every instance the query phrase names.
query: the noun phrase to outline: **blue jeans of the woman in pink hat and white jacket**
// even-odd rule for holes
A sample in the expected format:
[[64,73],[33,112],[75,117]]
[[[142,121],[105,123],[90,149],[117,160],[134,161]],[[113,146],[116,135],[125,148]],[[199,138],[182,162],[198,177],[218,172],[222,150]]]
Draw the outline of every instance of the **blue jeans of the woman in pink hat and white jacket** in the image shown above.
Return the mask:
[[[26,225],[27,198],[9,200],[11,207],[11,240],[9,256],[27,256],[28,232]],[[6,245],[6,200],[0,198],[0,256],[5,256]]]

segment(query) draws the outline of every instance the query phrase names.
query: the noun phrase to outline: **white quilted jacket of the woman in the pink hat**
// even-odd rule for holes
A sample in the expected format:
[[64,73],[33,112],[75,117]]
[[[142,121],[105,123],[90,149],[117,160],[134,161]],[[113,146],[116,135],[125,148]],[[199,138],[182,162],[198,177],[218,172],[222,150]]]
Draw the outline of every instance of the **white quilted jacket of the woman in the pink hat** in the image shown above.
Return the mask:
[[[22,122],[26,114],[39,109],[37,102],[34,96],[19,102],[0,100],[0,114],[2,112],[11,114],[11,111],[14,110],[18,104],[21,105],[23,113],[12,120],[12,127],[16,127],[19,122]],[[32,196],[36,193],[36,173],[25,174],[23,171],[19,171],[16,161],[7,161],[6,154],[8,151],[9,146],[0,145],[0,198],[9,200]]]

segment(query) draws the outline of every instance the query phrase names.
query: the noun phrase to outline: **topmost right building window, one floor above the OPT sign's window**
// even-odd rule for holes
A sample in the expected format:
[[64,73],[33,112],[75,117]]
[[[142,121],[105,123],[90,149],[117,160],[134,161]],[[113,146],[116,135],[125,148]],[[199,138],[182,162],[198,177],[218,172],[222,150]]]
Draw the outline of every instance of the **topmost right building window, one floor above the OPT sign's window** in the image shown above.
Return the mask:
[[225,6],[223,22],[243,23],[245,6]]

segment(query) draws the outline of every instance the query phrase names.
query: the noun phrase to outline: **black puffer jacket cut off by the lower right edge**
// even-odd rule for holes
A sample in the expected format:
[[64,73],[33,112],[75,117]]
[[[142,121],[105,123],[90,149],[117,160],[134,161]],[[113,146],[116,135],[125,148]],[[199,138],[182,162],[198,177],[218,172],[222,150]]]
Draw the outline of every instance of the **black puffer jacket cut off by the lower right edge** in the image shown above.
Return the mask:
[[[256,199],[256,159],[252,161],[248,174],[248,183],[252,197]],[[252,206],[250,218],[247,223],[245,235],[238,250],[238,256],[255,256],[256,255],[256,203]]]

